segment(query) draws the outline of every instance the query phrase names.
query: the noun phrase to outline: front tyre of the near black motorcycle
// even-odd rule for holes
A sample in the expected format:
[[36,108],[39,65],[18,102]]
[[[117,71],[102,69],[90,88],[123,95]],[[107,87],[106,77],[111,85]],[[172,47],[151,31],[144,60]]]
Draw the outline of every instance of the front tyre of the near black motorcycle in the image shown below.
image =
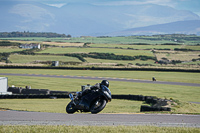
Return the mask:
[[102,111],[106,106],[106,100],[105,99],[97,99],[94,101],[90,108],[90,112],[92,114],[97,114],[100,111]]

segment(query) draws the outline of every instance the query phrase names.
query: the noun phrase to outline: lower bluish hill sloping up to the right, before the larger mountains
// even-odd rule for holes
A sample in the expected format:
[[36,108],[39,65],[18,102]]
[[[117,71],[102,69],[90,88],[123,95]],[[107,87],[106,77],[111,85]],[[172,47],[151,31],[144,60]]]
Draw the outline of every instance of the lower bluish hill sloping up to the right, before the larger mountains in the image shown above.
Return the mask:
[[132,28],[107,34],[108,36],[155,35],[155,34],[200,35],[200,20],[178,21],[166,24]]

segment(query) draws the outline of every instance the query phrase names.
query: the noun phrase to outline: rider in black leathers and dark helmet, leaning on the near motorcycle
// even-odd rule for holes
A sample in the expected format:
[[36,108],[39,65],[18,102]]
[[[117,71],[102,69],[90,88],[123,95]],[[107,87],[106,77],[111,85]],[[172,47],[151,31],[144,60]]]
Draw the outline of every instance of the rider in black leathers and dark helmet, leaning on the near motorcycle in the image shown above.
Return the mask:
[[91,86],[90,89],[86,89],[83,92],[78,93],[78,98],[80,98],[81,96],[84,96],[94,90],[101,89],[102,85],[109,87],[109,82],[107,80],[102,80],[101,83],[96,83],[95,85]]

